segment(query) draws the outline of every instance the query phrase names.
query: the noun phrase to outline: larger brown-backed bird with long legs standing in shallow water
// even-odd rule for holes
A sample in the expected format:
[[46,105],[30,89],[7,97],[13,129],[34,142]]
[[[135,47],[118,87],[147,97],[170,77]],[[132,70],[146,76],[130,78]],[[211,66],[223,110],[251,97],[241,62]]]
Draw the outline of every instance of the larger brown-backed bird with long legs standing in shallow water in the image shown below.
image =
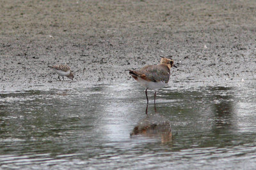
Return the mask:
[[[145,94],[147,97],[148,106],[148,93],[147,90],[154,90],[154,106],[156,111],[156,92],[162,89],[168,84],[170,80],[170,69],[172,67],[177,67],[174,65],[172,59],[162,57],[160,64],[144,66],[138,70],[129,70],[129,74],[134,78],[140,85],[146,88]],[[147,114],[147,108],[146,108]]]

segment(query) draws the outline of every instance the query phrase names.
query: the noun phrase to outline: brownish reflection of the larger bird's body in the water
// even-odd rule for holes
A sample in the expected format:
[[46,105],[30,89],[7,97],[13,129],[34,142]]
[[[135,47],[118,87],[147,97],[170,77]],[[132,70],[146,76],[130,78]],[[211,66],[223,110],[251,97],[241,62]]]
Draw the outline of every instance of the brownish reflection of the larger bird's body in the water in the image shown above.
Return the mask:
[[145,136],[148,138],[161,138],[162,143],[172,141],[170,121],[158,113],[147,114],[134,127],[131,136]]

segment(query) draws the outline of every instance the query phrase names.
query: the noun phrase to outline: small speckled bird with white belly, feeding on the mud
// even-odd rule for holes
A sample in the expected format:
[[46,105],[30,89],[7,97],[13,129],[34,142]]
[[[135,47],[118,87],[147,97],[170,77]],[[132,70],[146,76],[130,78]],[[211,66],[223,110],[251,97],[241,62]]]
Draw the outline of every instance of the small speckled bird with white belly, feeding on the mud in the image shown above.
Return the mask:
[[63,80],[64,80],[64,76],[67,76],[67,78],[73,80],[74,78],[74,73],[72,73],[70,67],[66,66],[66,65],[56,65],[56,66],[48,66],[50,67],[53,71],[55,71],[59,76],[59,80],[60,80],[60,76],[62,76]]

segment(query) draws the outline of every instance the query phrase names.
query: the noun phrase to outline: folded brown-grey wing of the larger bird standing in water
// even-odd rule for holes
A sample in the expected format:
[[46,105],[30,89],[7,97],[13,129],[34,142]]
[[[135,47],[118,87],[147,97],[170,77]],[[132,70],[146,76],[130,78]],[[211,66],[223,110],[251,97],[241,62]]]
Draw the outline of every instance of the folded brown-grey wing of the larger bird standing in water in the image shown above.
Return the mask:
[[133,71],[133,73],[147,81],[164,81],[168,83],[170,80],[170,69],[164,64],[145,66],[140,70]]

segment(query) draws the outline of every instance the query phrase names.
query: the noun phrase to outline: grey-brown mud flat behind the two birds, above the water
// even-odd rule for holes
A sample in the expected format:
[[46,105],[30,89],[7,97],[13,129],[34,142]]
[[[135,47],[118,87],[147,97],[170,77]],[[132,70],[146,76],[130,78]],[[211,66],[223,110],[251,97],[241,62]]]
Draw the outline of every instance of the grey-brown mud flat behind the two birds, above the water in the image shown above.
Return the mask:
[[[0,2],[0,91],[132,82],[172,56],[170,86],[255,83],[256,1]],[[75,81],[47,65],[68,64]]]

